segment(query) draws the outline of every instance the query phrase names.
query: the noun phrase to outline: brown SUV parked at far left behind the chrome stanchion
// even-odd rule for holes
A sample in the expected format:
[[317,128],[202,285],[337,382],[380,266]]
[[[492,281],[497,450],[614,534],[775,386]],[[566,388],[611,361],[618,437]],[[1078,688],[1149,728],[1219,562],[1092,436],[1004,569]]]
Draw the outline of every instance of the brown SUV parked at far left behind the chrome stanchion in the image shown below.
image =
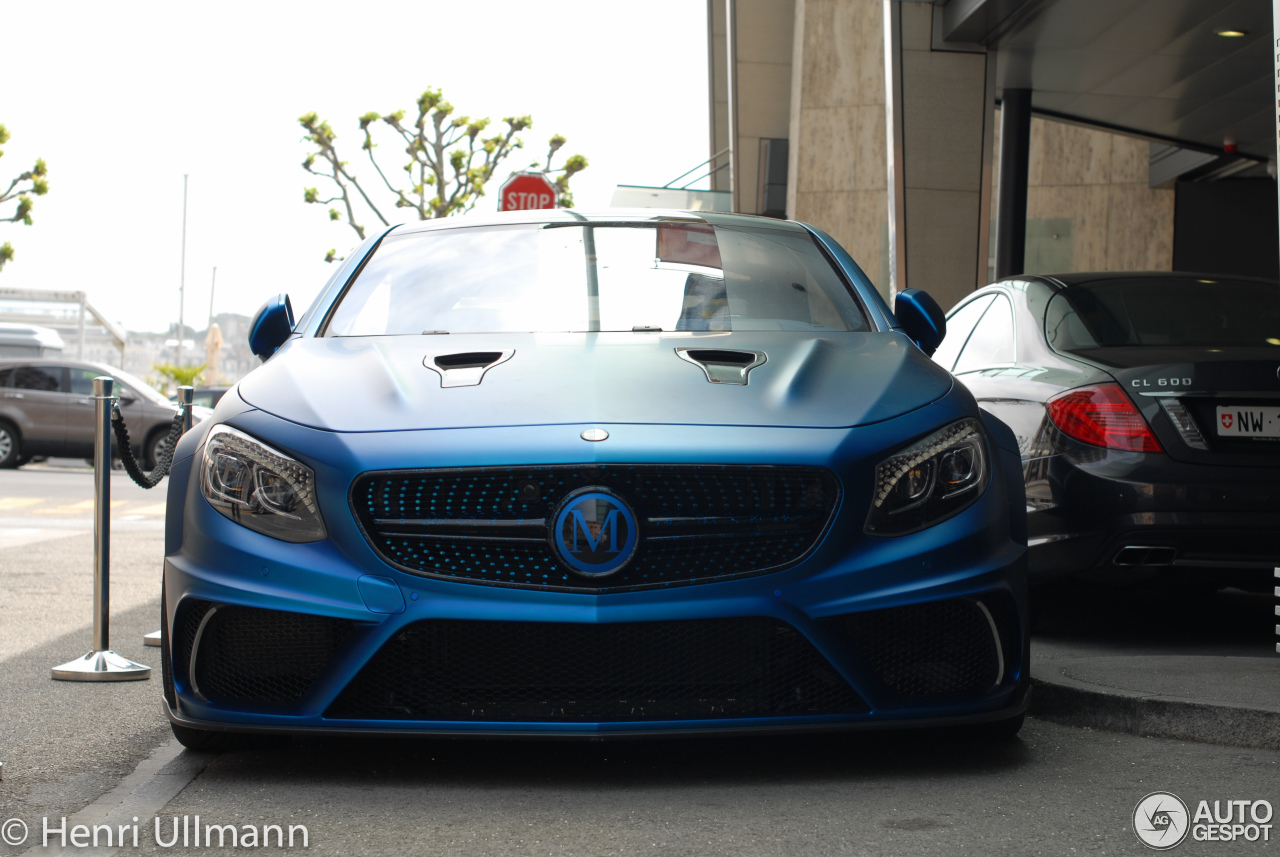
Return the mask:
[[93,455],[93,379],[110,375],[120,397],[133,454],[155,467],[175,405],[141,379],[105,363],[65,359],[0,361],[0,467],[33,455]]

